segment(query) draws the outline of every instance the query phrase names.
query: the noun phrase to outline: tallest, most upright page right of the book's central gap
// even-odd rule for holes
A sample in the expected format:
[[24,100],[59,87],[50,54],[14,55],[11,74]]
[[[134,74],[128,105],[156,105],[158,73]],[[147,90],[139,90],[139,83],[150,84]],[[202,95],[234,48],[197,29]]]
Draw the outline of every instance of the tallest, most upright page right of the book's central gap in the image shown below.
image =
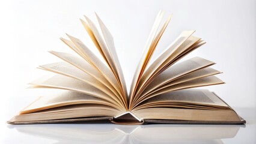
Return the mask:
[[[141,79],[141,76],[144,73],[145,67],[147,67],[147,65],[145,65],[145,64],[148,64],[147,61],[149,61],[148,56],[150,56],[150,53],[151,53],[150,52],[150,46],[151,46],[151,43],[154,40],[157,29],[159,28],[160,22],[161,22],[162,17],[163,17],[163,13],[164,13],[163,11],[159,11],[159,13],[157,14],[156,19],[154,20],[154,24],[153,24],[153,27],[151,29],[150,35],[148,37],[147,44],[145,46],[145,49],[142,53],[142,57],[139,60],[139,64],[138,64],[138,66],[136,68],[136,71],[135,71],[135,74],[133,76],[132,85],[130,87],[129,104],[132,103],[132,100],[133,100],[133,97],[134,97],[135,90],[136,90],[136,87],[138,85],[139,79]],[[151,49],[151,51],[153,51],[153,50]]]

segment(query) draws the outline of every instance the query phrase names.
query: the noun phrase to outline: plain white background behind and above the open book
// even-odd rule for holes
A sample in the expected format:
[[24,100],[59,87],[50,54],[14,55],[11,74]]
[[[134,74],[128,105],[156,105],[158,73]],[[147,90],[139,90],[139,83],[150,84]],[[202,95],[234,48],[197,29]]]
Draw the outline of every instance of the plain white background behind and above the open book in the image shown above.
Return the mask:
[[[217,64],[225,85],[209,86],[231,107],[256,105],[256,1],[1,1],[1,125],[33,98],[27,83],[46,74],[36,67],[60,61],[49,50],[71,52],[66,33],[91,49],[79,18],[94,11],[111,31],[128,86],[159,10],[173,14],[153,59],[182,31],[196,30],[207,44],[184,59],[200,56]],[[29,99],[26,103],[18,103]]]

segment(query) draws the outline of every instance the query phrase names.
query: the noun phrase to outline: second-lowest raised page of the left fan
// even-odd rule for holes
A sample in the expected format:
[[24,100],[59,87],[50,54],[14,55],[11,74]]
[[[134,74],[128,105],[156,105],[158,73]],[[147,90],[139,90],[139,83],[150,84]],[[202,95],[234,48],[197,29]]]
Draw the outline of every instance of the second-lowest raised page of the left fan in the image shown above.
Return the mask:
[[74,79],[81,80],[83,82],[88,83],[91,86],[94,86],[97,89],[100,89],[100,91],[105,92],[107,95],[111,96],[114,100],[120,101],[118,95],[115,95],[111,89],[103,85],[99,80],[95,79],[90,74],[84,73],[84,71],[76,68],[75,66],[67,63],[67,62],[55,62],[52,64],[47,65],[40,65],[40,68],[43,68],[43,70],[52,71],[53,73],[62,74],[64,76],[69,76]]

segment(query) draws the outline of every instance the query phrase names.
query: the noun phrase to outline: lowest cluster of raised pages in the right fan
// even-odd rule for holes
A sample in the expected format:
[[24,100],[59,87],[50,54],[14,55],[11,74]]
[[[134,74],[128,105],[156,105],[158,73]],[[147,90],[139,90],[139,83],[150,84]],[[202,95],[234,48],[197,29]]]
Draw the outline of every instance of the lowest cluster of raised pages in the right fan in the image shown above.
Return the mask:
[[[141,103],[145,97],[153,97],[153,93],[159,91],[160,89],[166,89],[166,92],[171,91],[172,88],[177,87],[177,84],[180,83],[179,89],[184,89],[183,85],[188,83],[189,80],[200,79],[202,77],[212,76],[215,74],[221,73],[220,71],[214,70],[213,68],[209,68],[210,65],[215,64],[212,61],[208,61],[203,58],[191,58],[186,61],[180,62],[172,67],[169,67],[167,70],[163,71],[163,73],[159,74],[142,92],[137,101],[134,102],[132,107],[136,106],[138,103]],[[213,83],[212,81],[208,81],[209,85],[216,85],[218,83]],[[221,80],[219,83],[223,83]],[[203,84],[197,83],[197,86],[206,86]],[[177,89],[175,89],[177,90]],[[156,93],[154,93],[156,94]],[[132,109],[131,107],[131,109]]]

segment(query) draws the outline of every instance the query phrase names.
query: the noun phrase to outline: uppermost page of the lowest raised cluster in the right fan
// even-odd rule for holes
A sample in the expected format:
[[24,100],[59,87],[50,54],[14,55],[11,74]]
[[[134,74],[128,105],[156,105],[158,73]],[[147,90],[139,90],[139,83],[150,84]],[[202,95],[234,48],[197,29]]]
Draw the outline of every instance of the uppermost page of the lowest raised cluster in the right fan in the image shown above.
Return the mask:
[[192,71],[199,70],[200,68],[204,68],[213,64],[215,63],[199,57],[187,59],[186,61],[175,64],[163,71],[163,73],[159,74],[159,76],[157,76],[147,86],[147,88],[145,88],[140,97],[143,97],[148,92],[153,91],[154,89],[159,88],[160,86],[165,85],[174,79],[178,79],[187,73],[191,73]]

